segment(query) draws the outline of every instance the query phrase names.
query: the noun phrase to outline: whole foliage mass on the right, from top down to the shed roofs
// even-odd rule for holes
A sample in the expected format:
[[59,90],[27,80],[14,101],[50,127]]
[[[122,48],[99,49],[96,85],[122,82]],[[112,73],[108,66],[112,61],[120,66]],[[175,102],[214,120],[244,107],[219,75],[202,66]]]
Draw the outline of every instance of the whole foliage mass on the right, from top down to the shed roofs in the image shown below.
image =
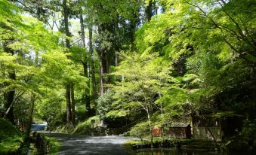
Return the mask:
[[[155,113],[153,118],[169,123],[186,121],[190,114],[221,112],[229,117],[248,114],[250,123],[245,123],[243,133],[254,133],[255,114],[251,109],[255,107],[256,92],[252,67],[256,58],[255,3],[251,0],[157,2],[165,5],[165,13],[140,27],[137,48],[140,53],[160,53],[170,60],[174,70],[182,66],[186,71],[178,74],[175,87],[170,85],[158,99],[163,113]],[[254,146],[248,139],[241,141],[234,148],[248,143]]]

